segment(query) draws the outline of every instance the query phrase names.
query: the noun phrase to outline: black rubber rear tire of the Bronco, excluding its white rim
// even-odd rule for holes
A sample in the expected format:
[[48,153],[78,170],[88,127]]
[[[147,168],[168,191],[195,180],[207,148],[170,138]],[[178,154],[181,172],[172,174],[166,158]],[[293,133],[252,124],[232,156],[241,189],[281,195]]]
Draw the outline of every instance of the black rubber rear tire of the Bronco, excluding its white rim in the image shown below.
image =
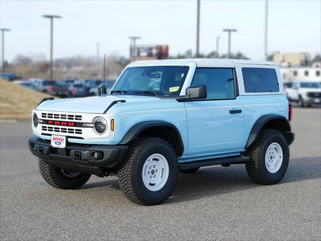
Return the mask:
[[[280,169],[276,173],[270,173],[265,165],[265,153],[271,143],[278,143],[283,152]],[[246,171],[255,183],[262,185],[273,185],[284,177],[289,163],[289,148],[284,135],[272,129],[263,129],[255,144],[245,152],[250,157],[246,163]]]

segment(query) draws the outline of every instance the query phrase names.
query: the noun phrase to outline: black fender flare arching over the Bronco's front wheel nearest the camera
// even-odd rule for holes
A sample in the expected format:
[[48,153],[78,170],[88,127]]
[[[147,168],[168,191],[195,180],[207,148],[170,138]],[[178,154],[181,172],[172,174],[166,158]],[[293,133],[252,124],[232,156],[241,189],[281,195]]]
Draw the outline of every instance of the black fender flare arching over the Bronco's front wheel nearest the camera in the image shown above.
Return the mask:
[[140,122],[135,124],[134,126],[132,126],[128,132],[125,134],[125,136],[123,137],[123,139],[120,141],[119,145],[127,145],[128,143],[132,142],[137,135],[147,129],[147,128],[151,128],[151,127],[170,127],[173,128],[176,131],[176,135],[179,137],[178,139],[178,145],[179,145],[179,149],[180,149],[180,153],[179,155],[183,154],[184,152],[184,144],[183,144],[183,139],[181,136],[181,133],[179,132],[179,130],[177,129],[177,127],[171,123],[168,122],[164,122],[164,121],[147,121],[147,122]]

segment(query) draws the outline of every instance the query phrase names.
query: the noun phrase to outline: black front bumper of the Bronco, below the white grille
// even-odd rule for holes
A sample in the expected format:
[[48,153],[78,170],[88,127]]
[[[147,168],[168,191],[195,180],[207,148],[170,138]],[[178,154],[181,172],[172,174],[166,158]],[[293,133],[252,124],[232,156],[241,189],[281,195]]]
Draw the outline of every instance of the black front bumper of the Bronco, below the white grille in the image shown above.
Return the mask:
[[[127,146],[81,146],[67,145],[66,149],[51,147],[50,141],[29,139],[30,151],[46,163],[74,172],[104,175],[108,169],[116,168],[127,152]],[[93,160],[92,152],[98,154]]]

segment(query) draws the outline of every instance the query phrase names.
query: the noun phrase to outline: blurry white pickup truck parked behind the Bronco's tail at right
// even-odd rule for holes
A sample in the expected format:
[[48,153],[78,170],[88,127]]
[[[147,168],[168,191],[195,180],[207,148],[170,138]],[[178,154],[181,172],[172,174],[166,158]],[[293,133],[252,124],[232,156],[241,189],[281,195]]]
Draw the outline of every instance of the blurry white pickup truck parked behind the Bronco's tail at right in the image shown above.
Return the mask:
[[301,107],[321,104],[321,82],[295,81],[292,87],[285,89],[285,95]]

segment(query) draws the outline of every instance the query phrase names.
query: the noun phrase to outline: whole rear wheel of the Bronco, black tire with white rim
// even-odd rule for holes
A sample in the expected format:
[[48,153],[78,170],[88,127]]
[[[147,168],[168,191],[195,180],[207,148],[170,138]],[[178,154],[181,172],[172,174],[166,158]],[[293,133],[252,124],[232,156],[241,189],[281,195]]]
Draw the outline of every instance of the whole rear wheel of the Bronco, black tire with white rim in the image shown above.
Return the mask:
[[289,148],[281,132],[262,130],[246,155],[250,157],[246,171],[254,182],[272,185],[284,177],[289,163]]

